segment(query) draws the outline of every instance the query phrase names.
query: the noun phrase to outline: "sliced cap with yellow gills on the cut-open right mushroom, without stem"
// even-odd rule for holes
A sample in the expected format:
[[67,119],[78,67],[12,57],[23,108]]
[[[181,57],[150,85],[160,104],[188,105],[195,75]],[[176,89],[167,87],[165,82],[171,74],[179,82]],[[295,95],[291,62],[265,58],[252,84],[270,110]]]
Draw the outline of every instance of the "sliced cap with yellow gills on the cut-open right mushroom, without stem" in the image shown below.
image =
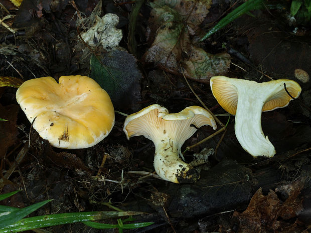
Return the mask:
[[[284,83],[289,94],[293,98],[300,95],[301,87],[298,83],[289,79],[272,80],[265,83],[257,83],[244,79],[228,78],[225,76],[215,76],[210,80],[211,89],[218,103],[228,113],[235,115],[238,103],[238,94],[243,89],[261,89],[269,90],[266,93],[272,93],[267,96],[262,107],[262,111],[272,111],[277,108],[286,107],[293,100],[285,91]],[[254,89],[255,91],[255,89]],[[243,93],[242,93],[243,94]],[[264,93],[262,93],[264,95]]]

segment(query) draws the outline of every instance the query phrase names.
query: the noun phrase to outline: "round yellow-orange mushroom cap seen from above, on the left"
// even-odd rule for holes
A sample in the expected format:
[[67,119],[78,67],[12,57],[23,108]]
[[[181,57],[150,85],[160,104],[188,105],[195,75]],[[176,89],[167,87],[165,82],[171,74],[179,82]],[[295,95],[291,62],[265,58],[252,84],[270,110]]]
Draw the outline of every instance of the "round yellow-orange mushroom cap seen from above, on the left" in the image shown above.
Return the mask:
[[52,77],[31,79],[16,99],[39,135],[58,148],[91,147],[114,125],[109,95],[86,76],[62,76],[59,83]]

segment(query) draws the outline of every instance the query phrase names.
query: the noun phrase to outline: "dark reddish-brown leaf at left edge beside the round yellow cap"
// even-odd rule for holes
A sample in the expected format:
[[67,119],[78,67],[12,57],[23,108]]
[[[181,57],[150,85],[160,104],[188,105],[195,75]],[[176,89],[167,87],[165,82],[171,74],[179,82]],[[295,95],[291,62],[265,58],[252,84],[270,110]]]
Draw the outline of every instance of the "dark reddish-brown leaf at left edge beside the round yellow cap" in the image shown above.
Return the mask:
[[14,145],[17,140],[18,129],[15,126],[17,114],[19,112],[18,105],[0,105],[0,118],[8,121],[0,121],[0,159],[4,158],[10,146]]

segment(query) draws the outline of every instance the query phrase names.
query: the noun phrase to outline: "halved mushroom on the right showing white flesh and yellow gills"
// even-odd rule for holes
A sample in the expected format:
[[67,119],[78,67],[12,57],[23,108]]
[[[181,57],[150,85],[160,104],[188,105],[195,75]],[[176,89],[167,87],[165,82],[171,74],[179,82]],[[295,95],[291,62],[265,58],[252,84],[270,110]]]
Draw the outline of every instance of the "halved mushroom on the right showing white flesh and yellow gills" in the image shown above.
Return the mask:
[[275,149],[261,129],[261,112],[286,107],[301,92],[295,81],[273,80],[265,83],[234,79],[224,76],[212,77],[211,89],[218,103],[235,115],[235,135],[241,146],[252,156],[272,157]]

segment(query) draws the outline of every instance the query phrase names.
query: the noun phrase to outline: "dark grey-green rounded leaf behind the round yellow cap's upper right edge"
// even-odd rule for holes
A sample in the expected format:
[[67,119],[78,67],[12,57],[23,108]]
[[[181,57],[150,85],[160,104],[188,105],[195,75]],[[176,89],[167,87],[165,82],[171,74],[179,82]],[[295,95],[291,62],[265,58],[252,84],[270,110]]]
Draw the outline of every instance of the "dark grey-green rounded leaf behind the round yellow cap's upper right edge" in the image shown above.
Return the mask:
[[89,77],[107,91],[115,108],[128,109],[140,99],[142,76],[136,59],[127,52],[114,50],[92,56]]

